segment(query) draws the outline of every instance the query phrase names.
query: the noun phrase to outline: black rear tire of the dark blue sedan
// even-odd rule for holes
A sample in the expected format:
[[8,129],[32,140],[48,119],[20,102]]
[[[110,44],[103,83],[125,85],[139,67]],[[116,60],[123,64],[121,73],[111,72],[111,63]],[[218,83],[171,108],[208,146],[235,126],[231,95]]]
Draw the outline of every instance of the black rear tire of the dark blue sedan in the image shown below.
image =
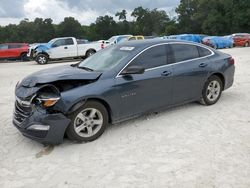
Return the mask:
[[[217,89],[213,88],[213,91],[211,91],[212,89],[209,89],[209,87],[211,87],[212,82],[216,83],[216,85],[219,84],[219,87],[217,86]],[[204,84],[200,103],[207,106],[215,104],[220,99],[222,90],[223,90],[223,84],[221,79],[216,75],[210,76],[206,81],[206,83]],[[211,96],[212,94],[210,95],[211,97],[209,97],[208,95],[210,94],[210,92],[214,93],[216,97],[212,98]]]

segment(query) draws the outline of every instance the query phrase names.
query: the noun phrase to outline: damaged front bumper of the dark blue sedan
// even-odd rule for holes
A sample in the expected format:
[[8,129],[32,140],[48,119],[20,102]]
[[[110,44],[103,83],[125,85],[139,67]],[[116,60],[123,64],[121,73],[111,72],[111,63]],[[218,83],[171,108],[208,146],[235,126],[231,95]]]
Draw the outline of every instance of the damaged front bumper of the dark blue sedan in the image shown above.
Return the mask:
[[43,144],[60,144],[70,123],[62,113],[48,114],[15,102],[13,124],[26,137]]

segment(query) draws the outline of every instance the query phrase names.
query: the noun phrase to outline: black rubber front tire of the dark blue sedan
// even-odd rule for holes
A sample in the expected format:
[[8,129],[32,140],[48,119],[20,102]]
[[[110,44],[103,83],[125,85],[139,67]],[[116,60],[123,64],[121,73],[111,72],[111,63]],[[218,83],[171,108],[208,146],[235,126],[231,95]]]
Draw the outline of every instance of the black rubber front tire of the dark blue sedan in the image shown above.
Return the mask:
[[[82,120],[82,119],[79,120],[78,115],[83,114],[84,111],[85,110],[87,111],[88,109],[96,109],[98,111],[98,113],[100,112],[101,115],[102,115],[103,121],[102,121],[102,124],[100,124],[101,127],[99,127],[99,128],[96,127],[96,129],[98,128],[96,133],[93,133],[93,135],[91,135],[91,136],[82,136],[80,134],[88,134],[88,127],[90,125],[86,125],[81,130],[81,131],[85,131],[87,133],[84,133],[84,132],[83,133],[82,132],[77,133],[75,129],[80,127],[83,124],[85,125],[85,123],[87,121],[85,120],[85,121],[80,122],[81,125],[79,125],[79,126],[76,126],[75,123],[77,121]],[[84,117],[86,117],[86,116],[84,116]],[[67,134],[69,139],[71,139],[73,141],[76,141],[76,142],[91,142],[91,141],[96,140],[97,138],[99,138],[103,134],[103,132],[105,131],[105,129],[106,129],[107,125],[108,125],[108,112],[107,112],[107,109],[105,108],[105,106],[103,106],[101,103],[99,103],[97,101],[87,101],[80,109],[76,110],[71,115],[69,115],[69,118],[71,119],[71,123],[70,123],[70,125],[68,126],[68,128],[66,130],[66,134]],[[94,120],[94,119],[95,118],[93,117],[92,120]],[[91,127],[93,132],[95,131],[94,126],[95,125],[92,125],[92,127]]]

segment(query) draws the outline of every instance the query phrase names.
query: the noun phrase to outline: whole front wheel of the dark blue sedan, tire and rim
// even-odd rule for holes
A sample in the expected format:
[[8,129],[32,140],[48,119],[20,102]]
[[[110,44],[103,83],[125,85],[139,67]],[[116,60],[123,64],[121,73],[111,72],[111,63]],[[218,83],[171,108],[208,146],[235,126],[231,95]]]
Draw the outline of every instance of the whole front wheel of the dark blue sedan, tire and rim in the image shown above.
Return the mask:
[[87,101],[69,118],[71,123],[66,134],[69,139],[77,142],[90,142],[97,139],[108,125],[108,112],[101,103],[96,101]]

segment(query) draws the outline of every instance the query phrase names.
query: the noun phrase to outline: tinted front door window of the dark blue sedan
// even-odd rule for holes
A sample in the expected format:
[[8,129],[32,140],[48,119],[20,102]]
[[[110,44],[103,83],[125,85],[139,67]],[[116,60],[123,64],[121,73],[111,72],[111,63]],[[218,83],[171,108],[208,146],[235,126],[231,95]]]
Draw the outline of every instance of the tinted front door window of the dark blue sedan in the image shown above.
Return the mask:
[[159,67],[167,64],[166,46],[152,47],[140,54],[131,65],[143,66],[145,69]]

